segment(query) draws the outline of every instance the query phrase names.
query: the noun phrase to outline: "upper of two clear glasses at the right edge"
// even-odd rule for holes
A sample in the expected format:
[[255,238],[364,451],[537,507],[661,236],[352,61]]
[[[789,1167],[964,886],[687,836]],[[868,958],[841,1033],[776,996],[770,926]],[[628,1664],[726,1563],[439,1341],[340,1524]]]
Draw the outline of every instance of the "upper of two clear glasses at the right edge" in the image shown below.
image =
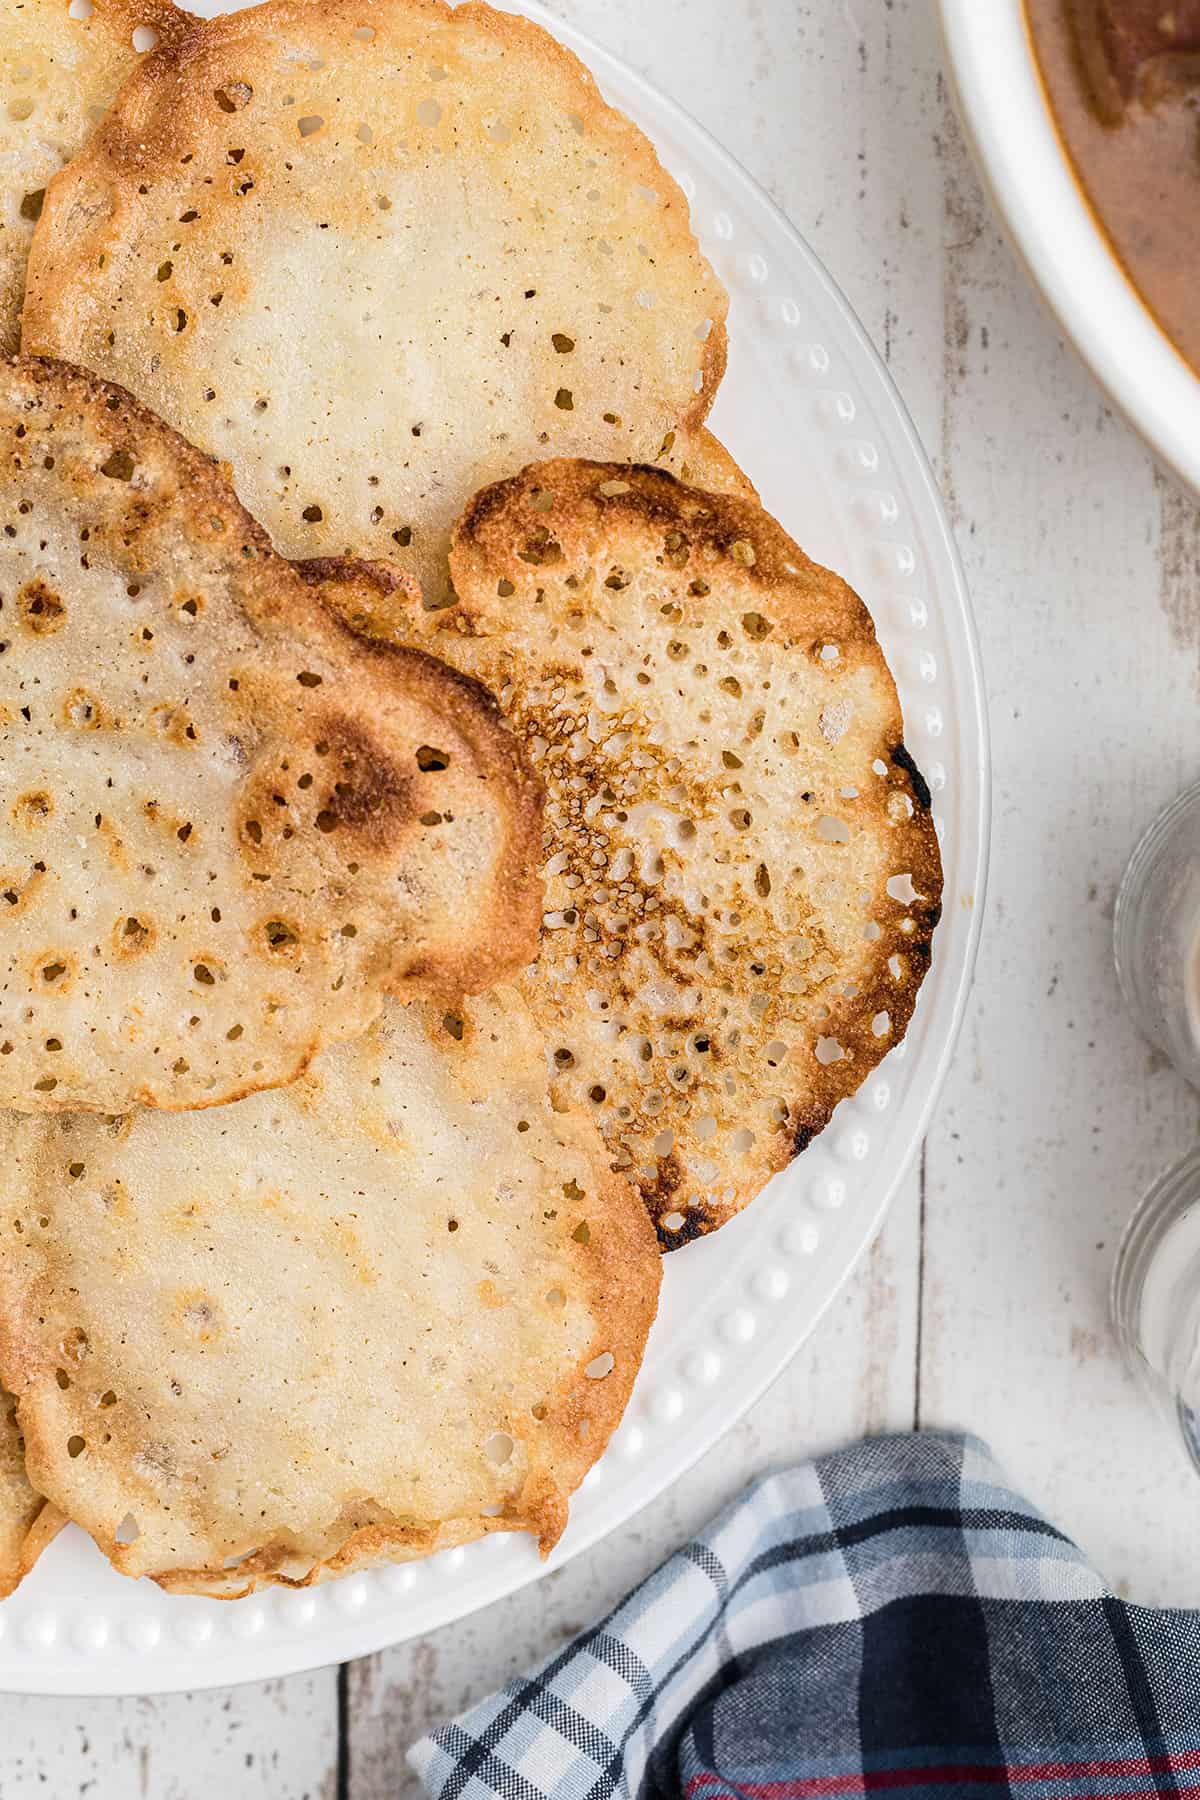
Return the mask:
[[1159,814],[1130,857],[1114,956],[1133,1019],[1200,1087],[1200,783]]

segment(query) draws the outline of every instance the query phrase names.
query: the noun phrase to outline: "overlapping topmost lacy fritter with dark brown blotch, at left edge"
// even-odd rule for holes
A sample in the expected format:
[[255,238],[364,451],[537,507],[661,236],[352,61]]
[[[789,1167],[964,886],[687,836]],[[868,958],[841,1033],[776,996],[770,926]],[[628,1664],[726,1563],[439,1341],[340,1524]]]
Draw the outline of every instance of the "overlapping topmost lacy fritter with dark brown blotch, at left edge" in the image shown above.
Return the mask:
[[0,365],[0,1102],[214,1105],[533,954],[495,702],[367,643],[128,394]]

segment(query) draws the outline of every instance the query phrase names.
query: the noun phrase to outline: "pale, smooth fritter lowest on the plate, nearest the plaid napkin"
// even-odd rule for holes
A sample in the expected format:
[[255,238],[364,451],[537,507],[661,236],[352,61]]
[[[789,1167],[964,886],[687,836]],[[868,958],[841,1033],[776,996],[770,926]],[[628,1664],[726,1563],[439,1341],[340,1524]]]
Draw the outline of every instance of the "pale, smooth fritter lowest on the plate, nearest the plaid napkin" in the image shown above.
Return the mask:
[[518,994],[389,1003],[230,1107],[2,1136],[0,1366],[34,1483],[119,1570],[232,1597],[554,1544],[660,1258]]

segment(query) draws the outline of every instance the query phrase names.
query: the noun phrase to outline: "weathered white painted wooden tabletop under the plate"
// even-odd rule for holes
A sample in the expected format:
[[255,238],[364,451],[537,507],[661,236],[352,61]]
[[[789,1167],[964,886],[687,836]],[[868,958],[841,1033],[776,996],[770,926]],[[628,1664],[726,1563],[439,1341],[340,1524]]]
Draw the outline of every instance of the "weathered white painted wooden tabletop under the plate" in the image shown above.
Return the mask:
[[995,749],[979,981],[918,1170],[820,1330],[687,1480],[543,1584],[344,1670],[0,1697],[4,1800],[383,1800],[405,1746],[560,1645],[768,1463],[966,1426],[1146,1604],[1200,1604],[1200,1487],[1106,1323],[1121,1226],[1200,1105],[1133,1033],[1112,900],[1200,774],[1200,508],[1110,412],[988,211],[932,0],[552,0],[752,169],[849,293],[966,560]]

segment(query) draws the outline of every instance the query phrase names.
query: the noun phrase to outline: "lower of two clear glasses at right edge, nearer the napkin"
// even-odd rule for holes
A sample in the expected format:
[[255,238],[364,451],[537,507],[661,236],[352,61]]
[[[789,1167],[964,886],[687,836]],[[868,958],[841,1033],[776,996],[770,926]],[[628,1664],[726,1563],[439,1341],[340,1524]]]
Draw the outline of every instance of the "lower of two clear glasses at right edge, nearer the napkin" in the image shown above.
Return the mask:
[[1130,1219],[1112,1273],[1112,1318],[1126,1363],[1200,1474],[1200,1145]]

